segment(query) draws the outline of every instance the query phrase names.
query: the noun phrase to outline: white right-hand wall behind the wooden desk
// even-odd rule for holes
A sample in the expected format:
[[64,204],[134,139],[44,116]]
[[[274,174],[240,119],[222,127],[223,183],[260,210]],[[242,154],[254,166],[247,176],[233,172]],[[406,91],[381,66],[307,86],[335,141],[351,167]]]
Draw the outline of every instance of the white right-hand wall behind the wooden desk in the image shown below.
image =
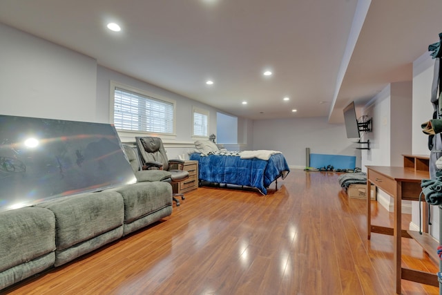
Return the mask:
[[[373,117],[374,126],[373,133],[365,137],[372,142],[372,149],[363,151],[363,167],[365,165],[403,166],[403,160],[400,158],[403,153],[430,155],[427,148],[428,137],[423,134],[421,124],[432,117],[430,95],[433,70],[434,60],[428,53],[424,53],[413,63],[411,86],[409,82],[392,83],[366,106],[365,112]],[[410,91],[412,93],[411,108],[408,103],[404,104],[409,99]],[[378,197],[380,197],[379,202],[391,211],[392,199],[383,191],[378,191]],[[412,213],[410,227],[417,230],[419,229],[419,203],[404,201],[403,211],[408,211],[408,206],[411,206]],[[439,238],[437,207],[433,207],[431,216],[430,234]]]

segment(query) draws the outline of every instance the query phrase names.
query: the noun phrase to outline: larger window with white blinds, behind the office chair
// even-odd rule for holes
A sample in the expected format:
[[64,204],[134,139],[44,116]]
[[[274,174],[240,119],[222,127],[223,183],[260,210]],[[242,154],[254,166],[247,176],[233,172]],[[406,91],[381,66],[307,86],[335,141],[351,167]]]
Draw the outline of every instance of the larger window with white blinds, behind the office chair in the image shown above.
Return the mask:
[[111,82],[116,129],[175,133],[175,101]]

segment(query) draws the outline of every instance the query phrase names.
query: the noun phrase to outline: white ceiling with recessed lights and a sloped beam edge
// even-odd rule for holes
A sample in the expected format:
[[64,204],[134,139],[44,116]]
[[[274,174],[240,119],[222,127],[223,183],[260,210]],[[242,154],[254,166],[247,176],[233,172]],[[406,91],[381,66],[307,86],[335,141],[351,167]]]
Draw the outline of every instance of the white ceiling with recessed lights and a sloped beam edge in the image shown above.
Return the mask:
[[[366,17],[357,13],[369,3],[1,0],[0,22],[233,115],[338,123],[349,102],[410,81],[412,61],[442,32],[441,0],[372,0]],[[109,31],[109,21],[122,31]]]

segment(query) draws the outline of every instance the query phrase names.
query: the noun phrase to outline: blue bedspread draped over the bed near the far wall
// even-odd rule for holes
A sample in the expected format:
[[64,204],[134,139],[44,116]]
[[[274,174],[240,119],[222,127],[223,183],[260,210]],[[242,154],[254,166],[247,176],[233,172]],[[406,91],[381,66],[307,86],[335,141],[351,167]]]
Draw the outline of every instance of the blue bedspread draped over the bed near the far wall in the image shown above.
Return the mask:
[[289,165],[282,153],[271,155],[268,161],[241,159],[232,155],[205,155],[192,153],[190,160],[197,160],[200,181],[255,187],[267,195],[267,187],[279,177],[289,173]]

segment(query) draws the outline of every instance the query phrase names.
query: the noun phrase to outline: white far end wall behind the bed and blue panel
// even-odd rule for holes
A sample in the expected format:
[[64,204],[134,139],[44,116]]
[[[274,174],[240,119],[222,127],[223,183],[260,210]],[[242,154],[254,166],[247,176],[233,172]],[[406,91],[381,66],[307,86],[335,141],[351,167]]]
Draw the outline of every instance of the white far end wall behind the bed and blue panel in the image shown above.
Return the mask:
[[329,124],[327,117],[253,121],[252,149],[281,151],[289,166],[305,168],[305,148],[311,153],[354,155],[361,166],[361,150],[347,138],[344,124]]

